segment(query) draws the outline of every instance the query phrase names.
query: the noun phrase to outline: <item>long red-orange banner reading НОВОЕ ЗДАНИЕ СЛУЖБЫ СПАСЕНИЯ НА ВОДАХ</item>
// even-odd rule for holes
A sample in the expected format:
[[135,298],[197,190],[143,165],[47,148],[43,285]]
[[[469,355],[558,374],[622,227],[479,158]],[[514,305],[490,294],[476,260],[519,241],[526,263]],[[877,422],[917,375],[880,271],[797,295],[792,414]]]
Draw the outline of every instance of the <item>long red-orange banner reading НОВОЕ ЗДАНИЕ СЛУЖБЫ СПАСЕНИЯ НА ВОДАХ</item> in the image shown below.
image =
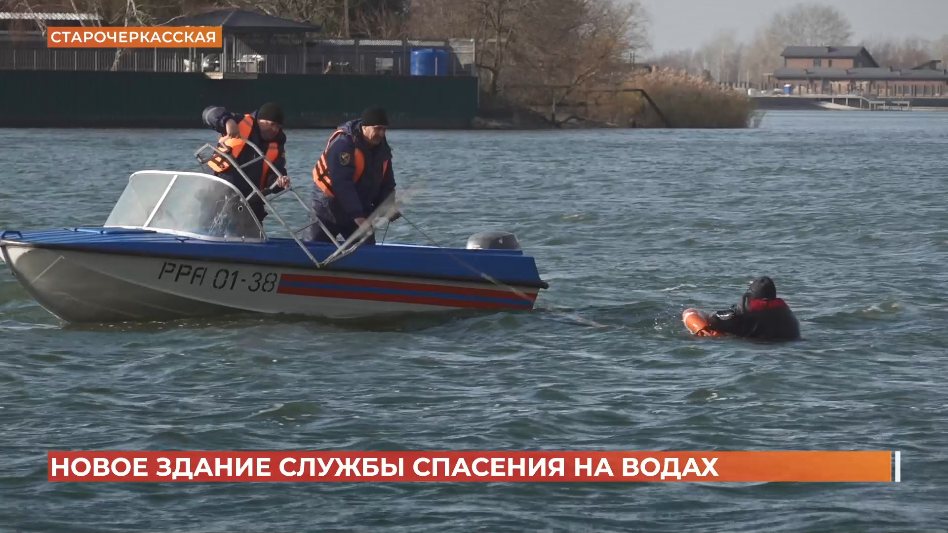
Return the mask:
[[[895,459],[893,464],[893,458]],[[901,481],[892,451],[49,451],[49,481]]]

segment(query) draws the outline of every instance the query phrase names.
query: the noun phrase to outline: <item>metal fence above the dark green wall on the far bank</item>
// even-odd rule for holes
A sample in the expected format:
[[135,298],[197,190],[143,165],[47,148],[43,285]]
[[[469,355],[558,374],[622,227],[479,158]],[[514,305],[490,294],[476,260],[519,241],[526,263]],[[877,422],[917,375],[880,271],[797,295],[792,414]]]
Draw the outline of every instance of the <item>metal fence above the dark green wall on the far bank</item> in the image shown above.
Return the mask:
[[47,48],[46,40],[0,39],[0,70],[121,70],[262,74],[409,75],[411,51],[440,48],[447,76],[476,76],[471,39],[302,40],[228,36],[223,49]]

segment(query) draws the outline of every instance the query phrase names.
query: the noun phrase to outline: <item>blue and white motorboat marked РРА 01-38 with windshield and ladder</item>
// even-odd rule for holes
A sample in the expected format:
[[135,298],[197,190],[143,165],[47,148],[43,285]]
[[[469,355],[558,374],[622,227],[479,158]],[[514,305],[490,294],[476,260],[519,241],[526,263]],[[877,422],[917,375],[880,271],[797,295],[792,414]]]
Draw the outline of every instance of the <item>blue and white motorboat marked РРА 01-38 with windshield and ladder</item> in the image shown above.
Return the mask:
[[[531,310],[548,288],[533,257],[512,233],[480,232],[465,248],[379,243],[366,245],[373,224],[339,242],[310,242],[302,230],[319,224],[289,187],[264,194],[220,146],[218,154],[252,187],[244,196],[205,172],[140,171],[101,227],[3,230],[0,255],[16,280],[65,322],[148,322],[242,313],[327,319],[404,316],[447,310]],[[310,224],[291,229],[273,207],[296,196]],[[287,236],[270,236],[253,215],[258,194]],[[396,199],[386,209],[400,209]]]

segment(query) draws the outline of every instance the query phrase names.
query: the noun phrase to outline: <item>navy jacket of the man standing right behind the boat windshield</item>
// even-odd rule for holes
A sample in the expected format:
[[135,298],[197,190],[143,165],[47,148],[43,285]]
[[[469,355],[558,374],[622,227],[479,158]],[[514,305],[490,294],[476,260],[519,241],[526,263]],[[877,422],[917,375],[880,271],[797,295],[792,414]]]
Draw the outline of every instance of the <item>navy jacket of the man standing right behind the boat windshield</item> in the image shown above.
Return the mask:
[[[253,129],[250,130],[250,135],[247,138],[249,138],[250,142],[253,142],[254,144],[256,144],[257,148],[260,148],[260,150],[264,154],[266,154],[266,146],[271,141],[264,140],[264,138],[260,134],[260,125],[257,124],[257,112],[254,111],[250,115],[253,116]],[[211,105],[205,108],[204,113],[201,114],[201,118],[204,120],[204,123],[206,125],[210,126],[210,129],[214,130],[215,132],[221,135],[226,135],[228,133],[227,131],[228,120],[232,119],[234,122],[237,122],[238,124],[240,124],[240,121],[244,119],[244,114],[231,113],[225,107]],[[278,135],[277,138],[275,138],[274,140],[280,145],[280,156],[277,157],[277,160],[273,162],[273,166],[277,167],[277,169],[280,170],[280,174],[286,175],[286,148],[285,148],[286,134],[283,133],[283,130],[280,131],[280,135]],[[236,157],[235,160],[237,161],[238,164],[243,165],[247,161],[258,156],[260,155],[257,154],[256,150],[254,150],[253,148],[249,146],[245,146],[244,150],[241,151],[240,156]],[[260,175],[261,173],[264,172],[265,164],[266,163],[264,163],[264,160],[261,159],[260,161],[257,161],[256,163],[244,168],[244,173],[246,174],[246,176],[252,179],[254,181],[254,184],[256,184],[258,187],[260,186]],[[273,185],[273,182],[277,180],[277,176],[273,174],[273,169],[268,169],[268,170],[269,172],[266,175],[267,187],[270,185]],[[232,168],[228,169],[227,172],[221,174],[220,177],[227,179],[230,183],[236,186],[237,189],[242,194],[244,194],[245,197],[247,194],[253,192],[253,189],[246,182],[246,179],[241,177],[241,175]],[[283,188],[274,187],[273,189],[271,189],[272,193],[279,193],[280,191],[283,191]]]

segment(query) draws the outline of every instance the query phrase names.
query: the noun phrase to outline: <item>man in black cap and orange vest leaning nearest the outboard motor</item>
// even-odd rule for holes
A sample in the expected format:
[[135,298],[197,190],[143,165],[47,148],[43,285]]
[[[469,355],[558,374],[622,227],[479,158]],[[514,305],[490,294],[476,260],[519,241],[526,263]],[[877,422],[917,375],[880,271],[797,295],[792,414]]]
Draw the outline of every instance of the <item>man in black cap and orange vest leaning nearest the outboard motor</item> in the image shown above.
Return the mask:
[[[394,193],[392,148],[385,138],[388,127],[385,109],[369,107],[361,119],[338,127],[313,167],[313,211],[334,236],[349,238]],[[400,216],[395,212],[391,220]],[[319,224],[308,232],[311,241],[332,242]],[[364,244],[375,244],[374,235]]]

